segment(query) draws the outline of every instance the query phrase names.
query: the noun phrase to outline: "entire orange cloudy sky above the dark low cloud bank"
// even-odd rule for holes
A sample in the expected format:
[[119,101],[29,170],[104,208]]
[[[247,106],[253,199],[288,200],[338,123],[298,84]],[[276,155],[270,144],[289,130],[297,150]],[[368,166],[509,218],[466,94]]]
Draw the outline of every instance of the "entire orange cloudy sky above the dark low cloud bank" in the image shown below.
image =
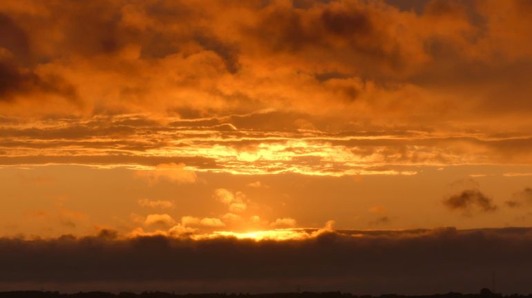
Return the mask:
[[3,1],[1,235],[532,224],[528,2],[207,2]]

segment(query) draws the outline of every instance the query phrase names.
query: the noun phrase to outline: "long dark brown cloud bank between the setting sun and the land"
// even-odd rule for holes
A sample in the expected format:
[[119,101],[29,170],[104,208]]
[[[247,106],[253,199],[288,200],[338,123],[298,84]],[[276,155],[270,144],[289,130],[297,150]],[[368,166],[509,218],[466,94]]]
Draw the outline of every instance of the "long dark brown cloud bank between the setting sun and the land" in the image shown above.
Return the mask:
[[196,285],[197,291],[201,284],[204,292],[246,292],[263,283],[275,292],[283,282],[299,282],[308,290],[419,294],[477,292],[495,271],[497,289],[530,290],[529,228],[345,231],[280,242],[116,237],[106,231],[81,239],[1,239],[0,288],[27,283],[61,290],[101,283],[141,290],[153,283],[159,289]]

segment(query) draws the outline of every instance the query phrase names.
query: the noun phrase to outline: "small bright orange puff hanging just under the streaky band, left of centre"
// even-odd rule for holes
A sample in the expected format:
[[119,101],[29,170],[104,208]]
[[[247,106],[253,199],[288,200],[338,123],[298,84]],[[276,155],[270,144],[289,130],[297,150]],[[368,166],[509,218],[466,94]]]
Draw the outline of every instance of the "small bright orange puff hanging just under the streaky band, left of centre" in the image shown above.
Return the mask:
[[173,183],[194,183],[196,173],[186,170],[184,163],[161,163],[149,170],[138,170],[137,176],[148,179],[150,183],[167,180]]

